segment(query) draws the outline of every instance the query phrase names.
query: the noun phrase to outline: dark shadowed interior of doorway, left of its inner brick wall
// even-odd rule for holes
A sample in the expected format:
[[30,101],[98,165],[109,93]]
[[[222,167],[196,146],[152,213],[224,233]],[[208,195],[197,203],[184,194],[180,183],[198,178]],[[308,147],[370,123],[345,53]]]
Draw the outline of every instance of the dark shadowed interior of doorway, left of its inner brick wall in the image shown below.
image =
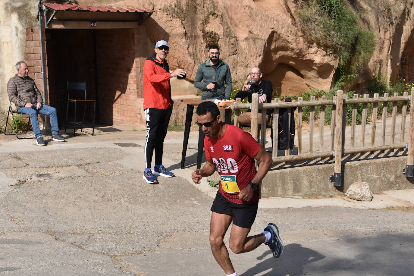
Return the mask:
[[[58,110],[60,128],[66,118],[67,82],[86,82],[87,99],[99,101],[95,37],[94,30],[46,30],[50,101]],[[84,96],[79,94],[77,98]],[[79,106],[78,110],[77,116],[81,118],[79,114],[83,114],[84,106]],[[86,110],[85,121],[92,122],[92,108],[86,106]],[[99,109],[96,111],[96,121],[99,122]],[[69,106],[69,118],[73,115],[73,106]]]

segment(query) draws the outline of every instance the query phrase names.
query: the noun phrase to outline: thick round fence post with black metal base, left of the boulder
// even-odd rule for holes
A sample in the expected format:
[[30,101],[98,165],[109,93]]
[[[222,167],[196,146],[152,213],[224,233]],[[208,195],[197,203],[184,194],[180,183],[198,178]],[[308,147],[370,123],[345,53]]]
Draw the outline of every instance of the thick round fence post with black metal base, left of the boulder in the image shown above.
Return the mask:
[[[344,91],[338,90],[336,98],[336,112],[338,116],[336,116],[335,122],[335,169],[333,175],[333,182],[335,186],[342,185],[342,112],[344,108],[344,99],[342,98],[343,93]],[[330,181],[332,181],[332,176]]]

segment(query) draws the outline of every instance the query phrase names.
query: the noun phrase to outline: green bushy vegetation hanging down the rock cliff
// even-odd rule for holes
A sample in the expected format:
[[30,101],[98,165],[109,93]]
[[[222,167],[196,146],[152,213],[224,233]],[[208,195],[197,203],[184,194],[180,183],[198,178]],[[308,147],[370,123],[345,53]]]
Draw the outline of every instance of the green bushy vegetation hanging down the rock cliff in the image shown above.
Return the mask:
[[339,58],[339,74],[363,70],[376,46],[375,34],[343,0],[295,0],[297,25],[309,43]]

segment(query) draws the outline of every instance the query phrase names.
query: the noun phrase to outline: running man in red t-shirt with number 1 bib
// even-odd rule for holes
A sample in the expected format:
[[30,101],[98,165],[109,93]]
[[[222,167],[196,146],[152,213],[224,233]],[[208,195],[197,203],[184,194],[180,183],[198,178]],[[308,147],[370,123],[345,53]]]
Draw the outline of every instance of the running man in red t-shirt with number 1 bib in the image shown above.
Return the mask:
[[[194,170],[191,178],[200,184],[201,178],[212,175],[216,168],[220,175],[219,191],[211,207],[209,240],[214,258],[227,276],[237,276],[223,242],[231,222],[231,251],[249,252],[265,243],[279,258],[283,243],[275,224],[269,223],[258,235],[247,236],[258,211],[258,183],[269,170],[272,158],[248,132],[222,122],[213,102],[205,101],[197,107],[197,125],[206,135],[207,162],[202,169]],[[254,159],[260,161],[257,172]]]

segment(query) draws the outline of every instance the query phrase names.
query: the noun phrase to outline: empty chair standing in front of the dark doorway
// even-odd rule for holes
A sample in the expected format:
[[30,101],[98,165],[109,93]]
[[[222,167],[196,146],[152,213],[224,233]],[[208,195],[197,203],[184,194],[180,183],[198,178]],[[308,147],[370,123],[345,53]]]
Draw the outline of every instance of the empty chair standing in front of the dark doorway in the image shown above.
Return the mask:
[[[76,99],[76,97],[74,98],[73,90],[84,91],[84,97],[82,96],[82,99]],[[76,120],[76,112],[77,112],[77,103],[78,102],[85,103],[82,123],[77,122],[77,120]],[[75,115],[74,115],[73,122],[67,122],[67,115],[69,113],[69,103],[75,103],[75,110],[74,110]],[[92,118],[92,136],[94,136],[96,101],[95,100],[87,100],[86,82],[67,82],[67,106],[66,106],[65,132],[66,132],[67,123],[73,124],[73,136],[75,136],[76,127],[78,127],[78,129],[80,128],[81,132],[83,132],[84,128],[91,127],[91,126],[84,125],[85,113],[86,113],[86,103],[93,103],[94,104],[94,113],[93,113],[93,118]]]

